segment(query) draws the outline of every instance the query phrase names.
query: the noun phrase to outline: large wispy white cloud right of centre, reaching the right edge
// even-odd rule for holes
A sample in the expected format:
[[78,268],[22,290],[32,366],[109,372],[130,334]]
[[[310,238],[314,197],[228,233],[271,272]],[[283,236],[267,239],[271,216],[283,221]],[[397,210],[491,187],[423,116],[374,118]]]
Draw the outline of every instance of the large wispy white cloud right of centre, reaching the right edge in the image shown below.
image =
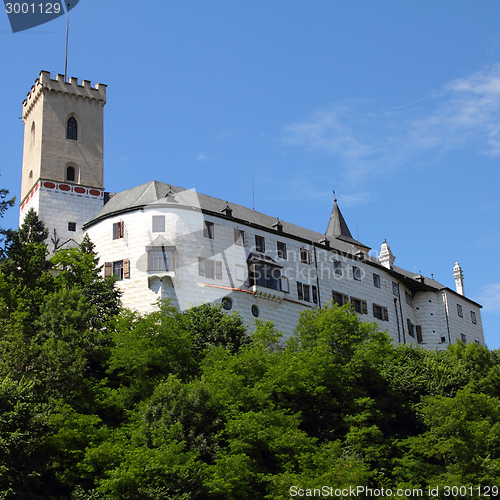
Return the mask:
[[414,167],[424,158],[435,161],[450,150],[500,156],[500,64],[390,110],[373,112],[368,103],[355,102],[317,111],[285,127],[282,141],[336,157],[352,184]]

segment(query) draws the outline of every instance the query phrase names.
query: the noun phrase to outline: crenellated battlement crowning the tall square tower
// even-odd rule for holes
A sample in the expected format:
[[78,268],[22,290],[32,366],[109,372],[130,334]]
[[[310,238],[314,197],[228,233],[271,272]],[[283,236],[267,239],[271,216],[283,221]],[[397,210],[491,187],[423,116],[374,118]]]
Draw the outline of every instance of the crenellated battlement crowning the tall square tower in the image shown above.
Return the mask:
[[57,75],[56,79],[53,80],[50,78],[49,71],[41,71],[40,76],[36,79],[28,96],[23,101],[23,120],[29,115],[43,91],[57,92],[82,99],[92,99],[102,102],[104,106],[106,104],[106,87],[103,83],[97,83],[95,87],[92,87],[89,80],[82,80],[79,85],[78,79],[75,77],[71,77],[69,82],[66,82],[64,75]]

